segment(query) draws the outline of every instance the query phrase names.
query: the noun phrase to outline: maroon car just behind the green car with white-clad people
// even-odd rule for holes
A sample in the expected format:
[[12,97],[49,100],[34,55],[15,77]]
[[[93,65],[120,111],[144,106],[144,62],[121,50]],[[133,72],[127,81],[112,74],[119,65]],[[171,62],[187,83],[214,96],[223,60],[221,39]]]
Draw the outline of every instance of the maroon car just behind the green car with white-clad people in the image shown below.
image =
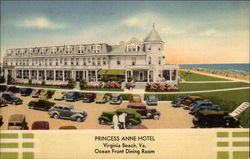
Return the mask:
[[143,118],[160,119],[160,112],[157,109],[149,109],[143,103],[129,103],[127,108],[136,110]]

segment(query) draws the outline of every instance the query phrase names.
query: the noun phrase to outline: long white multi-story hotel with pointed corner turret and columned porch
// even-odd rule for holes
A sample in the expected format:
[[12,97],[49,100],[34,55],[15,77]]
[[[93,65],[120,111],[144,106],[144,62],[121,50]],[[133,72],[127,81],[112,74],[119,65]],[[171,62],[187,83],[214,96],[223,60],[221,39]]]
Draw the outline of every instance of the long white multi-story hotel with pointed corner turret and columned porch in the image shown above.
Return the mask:
[[66,83],[69,79],[99,81],[117,75],[125,81],[178,83],[178,65],[165,64],[164,42],[153,27],[143,42],[132,38],[106,43],[8,49],[5,77],[20,82]]

